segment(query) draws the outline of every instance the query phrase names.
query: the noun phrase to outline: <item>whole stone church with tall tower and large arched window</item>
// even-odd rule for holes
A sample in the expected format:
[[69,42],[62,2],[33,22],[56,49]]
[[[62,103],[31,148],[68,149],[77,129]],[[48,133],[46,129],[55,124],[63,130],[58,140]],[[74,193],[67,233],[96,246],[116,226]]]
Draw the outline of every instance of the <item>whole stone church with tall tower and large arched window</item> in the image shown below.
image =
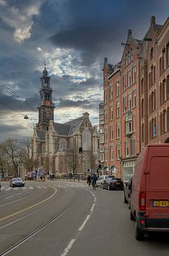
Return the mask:
[[[54,103],[47,69],[42,72],[39,121],[34,128],[31,154],[35,170],[46,170],[55,176],[81,174],[97,169],[99,137],[88,112],[64,124],[54,122]],[[79,153],[82,148],[82,154]]]

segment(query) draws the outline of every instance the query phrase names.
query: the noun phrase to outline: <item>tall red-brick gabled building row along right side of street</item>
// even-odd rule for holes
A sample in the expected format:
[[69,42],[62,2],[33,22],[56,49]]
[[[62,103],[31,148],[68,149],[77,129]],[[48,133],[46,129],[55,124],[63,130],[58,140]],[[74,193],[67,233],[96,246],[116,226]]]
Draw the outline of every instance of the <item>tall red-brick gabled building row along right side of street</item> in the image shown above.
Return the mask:
[[100,124],[104,174],[128,181],[146,144],[169,142],[168,28],[169,19],[158,25],[152,16],[142,40],[128,30],[120,63],[110,65],[105,58]]

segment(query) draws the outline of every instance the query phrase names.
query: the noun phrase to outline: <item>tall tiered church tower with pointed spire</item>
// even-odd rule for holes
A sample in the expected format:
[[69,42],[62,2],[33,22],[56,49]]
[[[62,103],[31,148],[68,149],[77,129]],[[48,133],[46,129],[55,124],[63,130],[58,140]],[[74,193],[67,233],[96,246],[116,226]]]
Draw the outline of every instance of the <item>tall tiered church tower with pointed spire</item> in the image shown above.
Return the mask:
[[52,103],[52,88],[50,87],[50,77],[45,69],[42,72],[41,88],[40,88],[40,104],[37,107],[39,110],[39,129],[48,130],[49,121],[54,121],[54,103]]

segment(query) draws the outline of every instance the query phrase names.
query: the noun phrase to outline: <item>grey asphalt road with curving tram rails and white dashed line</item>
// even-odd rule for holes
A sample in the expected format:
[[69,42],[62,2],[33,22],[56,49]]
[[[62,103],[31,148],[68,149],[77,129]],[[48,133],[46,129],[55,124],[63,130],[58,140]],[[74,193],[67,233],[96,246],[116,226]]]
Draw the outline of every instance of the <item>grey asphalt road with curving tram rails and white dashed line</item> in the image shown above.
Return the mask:
[[168,234],[135,240],[123,191],[76,181],[1,184],[0,255],[169,255]]

